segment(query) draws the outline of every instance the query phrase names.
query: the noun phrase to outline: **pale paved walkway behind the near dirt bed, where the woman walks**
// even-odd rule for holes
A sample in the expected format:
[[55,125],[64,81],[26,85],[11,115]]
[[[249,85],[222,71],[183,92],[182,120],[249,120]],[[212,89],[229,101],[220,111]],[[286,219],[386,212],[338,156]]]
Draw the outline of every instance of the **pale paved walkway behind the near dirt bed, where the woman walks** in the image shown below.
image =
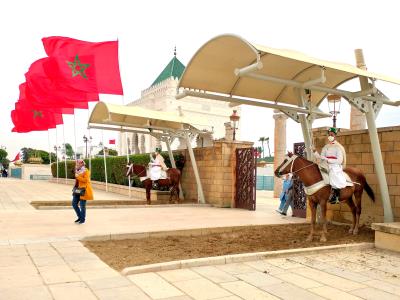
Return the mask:
[[[77,226],[71,209],[35,210],[31,199],[70,197],[65,185],[41,181],[0,180],[0,245],[78,240],[87,236],[240,225],[284,224],[304,219],[275,212],[277,200],[260,197],[257,211],[215,207],[149,206],[87,209],[87,223]],[[103,194],[102,194],[103,193]],[[105,194],[105,195],[104,195]],[[96,199],[123,197],[95,190]],[[276,202],[276,203],[275,203]]]

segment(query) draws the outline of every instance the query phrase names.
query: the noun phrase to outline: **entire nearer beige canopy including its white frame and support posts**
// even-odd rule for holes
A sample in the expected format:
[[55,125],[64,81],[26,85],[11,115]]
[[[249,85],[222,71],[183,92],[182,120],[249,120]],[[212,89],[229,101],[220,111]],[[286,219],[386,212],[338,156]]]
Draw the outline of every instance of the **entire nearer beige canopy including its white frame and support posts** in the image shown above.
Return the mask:
[[[360,66],[361,67],[361,66]],[[339,89],[358,77],[360,91]],[[399,106],[375,87],[399,79],[349,64],[325,61],[303,53],[251,44],[236,35],[217,36],[193,56],[178,85],[177,99],[186,96],[278,109],[301,123],[308,159],[312,158],[312,122],[328,117],[318,106],[328,94],[344,97],[365,113],[383,200],[384,218],[393,221],[375,118],[383,104]]]

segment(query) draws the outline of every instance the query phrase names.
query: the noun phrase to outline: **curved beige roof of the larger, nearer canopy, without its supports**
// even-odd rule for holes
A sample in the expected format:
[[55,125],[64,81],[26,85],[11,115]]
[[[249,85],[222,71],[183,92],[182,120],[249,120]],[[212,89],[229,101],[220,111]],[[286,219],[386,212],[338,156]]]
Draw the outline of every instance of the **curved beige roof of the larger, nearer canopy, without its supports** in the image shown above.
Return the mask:
[[[235,74],[236,69],[246,68],[257,62],[261,63],[259,68],[253,70],[249,76]],[[197,51],[186,67],[179,87],[299,105],[299,96],[293,86],[279,80],[307,82],[320,78],[321,71],[326,80],[317,85],[330,89],[357,76],[400,84],[399,79],[371,73],[349,64],[251,44],[235,35],[221,35],[211,39]],[[274,80],[260,80],[257,76]],[[313,90],[312,104],[318,105],[326,94],[326,91]]]

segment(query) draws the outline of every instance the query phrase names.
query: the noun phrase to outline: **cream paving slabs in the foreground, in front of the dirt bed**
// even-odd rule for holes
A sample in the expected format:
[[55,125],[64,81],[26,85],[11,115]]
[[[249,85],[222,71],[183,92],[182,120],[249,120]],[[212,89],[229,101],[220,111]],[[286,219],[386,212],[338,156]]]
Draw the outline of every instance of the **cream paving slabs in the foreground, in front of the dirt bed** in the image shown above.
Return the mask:
[[77,241],[0,246],[0,299],[400,299],[400,256],[339,251],[124,277]]

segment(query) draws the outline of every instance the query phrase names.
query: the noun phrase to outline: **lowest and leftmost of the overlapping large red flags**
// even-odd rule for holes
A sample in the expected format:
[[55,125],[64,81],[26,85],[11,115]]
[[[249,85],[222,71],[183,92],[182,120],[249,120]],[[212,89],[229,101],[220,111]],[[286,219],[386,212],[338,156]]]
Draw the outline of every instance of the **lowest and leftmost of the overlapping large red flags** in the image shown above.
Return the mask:
[[42,131],[63,124],[61,114],[31,109],[19,102],[15,103],[15,110],[11,111],[11,120],[14,123],[12,132]]

